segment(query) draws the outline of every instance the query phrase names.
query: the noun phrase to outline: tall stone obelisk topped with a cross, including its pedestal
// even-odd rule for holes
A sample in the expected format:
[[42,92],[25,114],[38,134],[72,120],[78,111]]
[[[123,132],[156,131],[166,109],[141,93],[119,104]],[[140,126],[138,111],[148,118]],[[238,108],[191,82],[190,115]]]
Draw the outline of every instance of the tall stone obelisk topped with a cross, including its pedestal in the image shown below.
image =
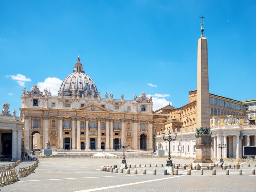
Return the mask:
[[197,47],[197,98],[196,98],[196,160],[201,166],[208,166],[211,160],[211,132],[209,109],[209,75],[207,38],[204,37],[203,15],[201,37]]

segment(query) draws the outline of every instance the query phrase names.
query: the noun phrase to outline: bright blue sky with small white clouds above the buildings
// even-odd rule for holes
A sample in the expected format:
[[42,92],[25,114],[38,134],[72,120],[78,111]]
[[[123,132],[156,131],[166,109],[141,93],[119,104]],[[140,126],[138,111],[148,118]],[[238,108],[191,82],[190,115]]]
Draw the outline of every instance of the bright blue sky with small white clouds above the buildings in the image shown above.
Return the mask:
[[102,94],[183,106],[196,89],[201,14],[210,93],[255,99],[254,0],[0,0],[0,103],[18,110],[34,84],[56,92],[80,54]]

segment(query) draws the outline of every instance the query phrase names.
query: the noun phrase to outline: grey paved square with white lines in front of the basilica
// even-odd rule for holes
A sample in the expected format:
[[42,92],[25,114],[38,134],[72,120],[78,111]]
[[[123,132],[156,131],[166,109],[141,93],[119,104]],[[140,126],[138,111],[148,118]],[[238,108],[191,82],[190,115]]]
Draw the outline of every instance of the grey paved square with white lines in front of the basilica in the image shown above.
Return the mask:
[[[173,159],[175,163],[190,163],[193,160]],[[122,159],[86,159],[86,158],[45,158],[40,159],[35,173],[26,178],[19,178],[20,181],[0,188],[4,192],[120,192],[120,191],[254,191],[256,176],[251,174],[256,162],[244,163],[242,175],[238,175],[238,170],[231,169],[230,175],[226,175],[226,170],[216,170],[216,176],[212,175],[212,170],[200,171],[192,170],[191,176],[187,176],[187,170],[179,169],[178,176],[164,175],[166,158],[140,158],[127,159],[127,164],[131,164],[130,173],[124,174],[112,172],[102,172],[101,166],[120,166]],[[234,164],[234,162],[230,162]],[[134,164],[138,169],[138,174],[134,173]],[[142,167],[138,167],[141,164]],[[144,167],[146,164],[146,167]],[[149,164],[152,167],[149,167]],[[155,166],[157,164],[157,167]],[[142,174],[146,168],[146,175]],[[153,169],[157,173],[153,175]]]

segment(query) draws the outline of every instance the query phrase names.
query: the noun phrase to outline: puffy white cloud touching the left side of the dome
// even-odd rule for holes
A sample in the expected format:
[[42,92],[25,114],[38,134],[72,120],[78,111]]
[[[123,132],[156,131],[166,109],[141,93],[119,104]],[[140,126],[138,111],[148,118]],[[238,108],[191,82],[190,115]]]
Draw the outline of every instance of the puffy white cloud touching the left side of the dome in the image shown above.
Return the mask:
[[47,88],[47,90],[50,91],[52,95],[58,95],[58,90],[60,90],[61,83],[62,80],[56,77],[48,77],[44,80],[44,82],[38,82],[37,86],[42,92],[45,88]]

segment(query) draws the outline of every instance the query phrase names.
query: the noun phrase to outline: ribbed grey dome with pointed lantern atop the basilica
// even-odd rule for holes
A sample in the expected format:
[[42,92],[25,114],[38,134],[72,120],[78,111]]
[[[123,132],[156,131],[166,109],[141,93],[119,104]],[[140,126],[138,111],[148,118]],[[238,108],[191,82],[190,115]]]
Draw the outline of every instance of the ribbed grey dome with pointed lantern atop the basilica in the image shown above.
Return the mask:
[[75,64],[74,71],[68,75],[60,86],[60,96],[97,97],[98,90],[93,80],[84,73],[80,57]]

